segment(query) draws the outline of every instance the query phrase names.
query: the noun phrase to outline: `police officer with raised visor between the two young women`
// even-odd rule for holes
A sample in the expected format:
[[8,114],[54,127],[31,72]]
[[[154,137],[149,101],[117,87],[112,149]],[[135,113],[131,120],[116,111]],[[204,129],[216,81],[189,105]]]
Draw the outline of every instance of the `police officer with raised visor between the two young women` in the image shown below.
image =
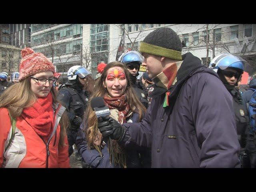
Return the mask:
[[69,156],[73,153],[78,129],[87,107],[88,98],[92,93],[94,80],[91,73],[83,66],[72,66],[68,70],[68,81],[58,93],[58,100],[68,110],[70,126],[67,130]]

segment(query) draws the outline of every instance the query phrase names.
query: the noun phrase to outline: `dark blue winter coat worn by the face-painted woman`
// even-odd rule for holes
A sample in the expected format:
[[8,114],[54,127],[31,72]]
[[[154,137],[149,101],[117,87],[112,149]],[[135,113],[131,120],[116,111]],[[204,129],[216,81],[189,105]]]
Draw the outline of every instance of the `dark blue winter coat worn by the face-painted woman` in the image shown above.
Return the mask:
[[[132,117],[130,118],[132,122],[138,122],[138,113],[134,113]],[[114,166],[114,163],[112,162],[110,166],[110,156],[108,152],[108,142],[105,141],[106,145],[102,149],[102,157],[100,156],[100,153],[96,149],[88,149],[88,144],[86,141],[86,135],[85,132],[82,130],[82,125],[80,126],[80,129],[78,130],[77,138],[76,138],[76,146],[78,148],[78,151],[80,152],[83,161],[88,165],[90,168],[120,168],[118,165]],[[142,150],[142,151],[141,151]],[[139,158],[139,152],[141,155],[141,158]],[[141,167],[141,160],[143,157],[146,158],[143,159],[144,162],[146,162],[146,165],[143,167],[150,167],[150,159],[147,159],[147,154],[150,153],[150,150],[148,148],[139,148],[138,146],[135,148],[127,148],[126,149],[126,166],[127,168],[140,168]],[[150,156],[149,156],[150,158]]]

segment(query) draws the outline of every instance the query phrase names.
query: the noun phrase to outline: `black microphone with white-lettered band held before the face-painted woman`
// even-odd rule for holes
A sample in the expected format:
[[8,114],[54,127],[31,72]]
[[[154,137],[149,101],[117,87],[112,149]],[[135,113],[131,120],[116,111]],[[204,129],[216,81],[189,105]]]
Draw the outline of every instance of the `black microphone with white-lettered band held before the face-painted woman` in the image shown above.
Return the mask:
[[94,97],[91,100],[91,106],[93,110],[95,111],[96,116],[102,117],[102,116],[108,116],[110,115],[110,110],[108,106],[105,105],[105,102],[102,97]]

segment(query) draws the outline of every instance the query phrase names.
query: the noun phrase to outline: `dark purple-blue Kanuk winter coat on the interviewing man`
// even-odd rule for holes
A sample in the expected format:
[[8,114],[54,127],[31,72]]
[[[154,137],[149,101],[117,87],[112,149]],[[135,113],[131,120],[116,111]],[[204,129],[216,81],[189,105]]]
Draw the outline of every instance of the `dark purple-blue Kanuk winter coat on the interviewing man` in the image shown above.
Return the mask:
[[163,107],[167,90],[155,85],[142,122],[123,124],[124,144],[151,147],[153,168],[240,167],[232,96],[199,58],[182,59],[170,106]]

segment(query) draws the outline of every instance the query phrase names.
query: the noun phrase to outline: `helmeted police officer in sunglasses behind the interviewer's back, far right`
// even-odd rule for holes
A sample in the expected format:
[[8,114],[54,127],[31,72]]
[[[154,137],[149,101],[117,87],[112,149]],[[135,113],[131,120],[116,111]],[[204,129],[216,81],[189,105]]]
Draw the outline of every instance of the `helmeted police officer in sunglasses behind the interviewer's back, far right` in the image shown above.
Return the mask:
[[[239,56],[233,54],[221,54],[215,57],[211,64],[215,64],[214,71],[217,72],[220,80],[223,82],[224,86],[230,92],[233,98],[233,107],[236,120],[236,130],[238,134],[238,141],[240,143],[240,160],[241,167],[252,167],[255,166],[254,162],[244,162],[244,154],[251,156],[253,150],[256,151],[256,147],[253,143],[252,137],[249,133],[248,128],[250,125],[247,122],[248,111],[246,110],[246,105],[242,101],[241,92],[238,90],[238,82],[242,78],[244,72],[244,66],[246,61]],[[247,145],[247,146],[246,146]],[[250,146],[250,147],[249,147]]]

